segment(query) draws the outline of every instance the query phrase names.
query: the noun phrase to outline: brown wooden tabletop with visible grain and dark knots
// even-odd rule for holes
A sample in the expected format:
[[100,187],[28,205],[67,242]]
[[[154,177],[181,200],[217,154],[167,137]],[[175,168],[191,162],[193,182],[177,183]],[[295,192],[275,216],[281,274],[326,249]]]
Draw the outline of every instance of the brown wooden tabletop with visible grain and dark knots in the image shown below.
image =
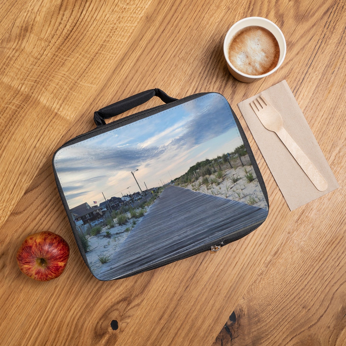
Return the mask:
[[[0,344],[346,345],[345,5],[1,1]],[[249,16],[275,22],[287,42],[280,69],[251,84],[229,74],[222,51],[229,27]],[[283,79],[340,184],[294,211],[237,107]],[[269,215],[215,255],[101,282],[75,244],[52,155],[94,128],[95,110],[152,88],[228,99],[263,174]],[[45,283],[22,274],[15,258],[24,238],[41,230],[71,248],[65,272]]]

